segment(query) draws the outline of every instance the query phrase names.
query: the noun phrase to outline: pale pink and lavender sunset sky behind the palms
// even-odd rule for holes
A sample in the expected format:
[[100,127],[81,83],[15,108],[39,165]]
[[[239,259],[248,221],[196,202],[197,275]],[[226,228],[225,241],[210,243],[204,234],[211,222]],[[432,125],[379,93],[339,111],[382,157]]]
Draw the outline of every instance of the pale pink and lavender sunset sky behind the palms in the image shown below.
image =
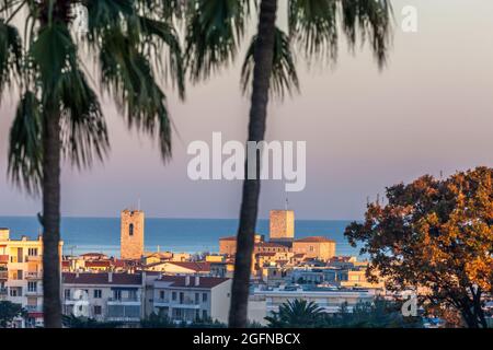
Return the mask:
[[[298,219],[360,219],[367,198],[382,195],[386,186],[493,165],[493,2],[392,3],[395,33],[383,71],[367,49],[352,55],[343,43],[333,69],[307,67],[298,57],[301,93],[268,107],[267,140],[307,142],[307,186],[288,194]],[[417,33],[400,30],[404,5],[419,10]],[[210,143],[215,131],[225,140],[246,139],[241,58],[209,81],[188,84],[185,102],[167,90],[177,131],[167,164],[156,142],[128,131],[104,97],[110,156],[81,173],[64,165],[62,214],[117,217],[140,202],[148,217],[237,218],[241,182],[191,180],[186,148],[195,140]],[[15,96],[4,97],[0,107],[0,215],[35,215],[39,198],[28,197],[7,177],[15,102]],[[264,182],[260,217],[284,208],[285,198],[283,182]]]

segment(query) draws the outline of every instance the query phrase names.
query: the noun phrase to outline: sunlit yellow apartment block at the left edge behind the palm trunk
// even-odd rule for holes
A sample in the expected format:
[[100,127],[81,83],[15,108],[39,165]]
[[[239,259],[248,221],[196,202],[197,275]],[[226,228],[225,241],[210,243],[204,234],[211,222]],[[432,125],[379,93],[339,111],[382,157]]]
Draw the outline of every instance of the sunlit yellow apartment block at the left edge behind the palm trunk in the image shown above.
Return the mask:
[[[61,247],[62,242],[60,257]],[[15,319],[14,327],[43,325],[42,236],[12,240],[9,229],[0,229],[0,300],[20,304],[27,311],[26,320]]]

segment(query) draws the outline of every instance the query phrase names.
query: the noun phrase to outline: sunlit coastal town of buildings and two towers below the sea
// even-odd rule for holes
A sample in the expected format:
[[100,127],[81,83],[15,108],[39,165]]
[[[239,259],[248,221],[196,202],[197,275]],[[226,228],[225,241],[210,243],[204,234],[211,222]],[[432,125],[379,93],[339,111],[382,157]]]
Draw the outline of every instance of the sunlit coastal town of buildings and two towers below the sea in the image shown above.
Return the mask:
[[[145,213],[124,210],[119,258],[62,255],[62,242],[59,249],[64,315],[126,327],[137,327],[151,314],[175,323],[228,320],[236,236],[220,238],[215,254],[145,252]],[[255,235],[250,322],[265,325],[265,317],[287,301],[307,300],[336,314],[343,304],[351,312],[360,302],[390,298],[382,281],[367,280],[368,261],[336,253],[336,243],[326,236],[297,238],[293,210],[272,210],[268,240]],[[42,257],[41,237],[12,240],[9,229],[0,229],[0,300],[27,312],[12,327],[43,326]]]

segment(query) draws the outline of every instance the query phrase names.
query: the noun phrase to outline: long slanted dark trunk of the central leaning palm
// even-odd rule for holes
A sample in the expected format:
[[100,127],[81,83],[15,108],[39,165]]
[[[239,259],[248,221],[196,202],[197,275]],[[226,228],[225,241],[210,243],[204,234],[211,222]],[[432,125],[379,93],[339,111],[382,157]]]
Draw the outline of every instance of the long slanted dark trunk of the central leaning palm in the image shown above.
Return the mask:
[[[262,141],[265,135],[270,78],[274,57],[277,0],[262,0],[255,47],[253,90],[250,109],[249,141]],[[248,159],[245,161],[245,174]],[[256,178],[243,182],[243,197],[238,229],[234,278],[232,282],[229,327],[246,326],[250,275],[260,196],[260,154],[256,156]]]

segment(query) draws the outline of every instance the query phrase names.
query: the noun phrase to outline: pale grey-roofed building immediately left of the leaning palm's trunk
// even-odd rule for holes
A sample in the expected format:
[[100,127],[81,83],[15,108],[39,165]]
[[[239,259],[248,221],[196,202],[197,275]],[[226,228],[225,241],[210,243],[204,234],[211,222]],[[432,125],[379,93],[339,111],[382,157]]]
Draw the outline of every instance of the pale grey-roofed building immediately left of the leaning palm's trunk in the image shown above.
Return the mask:
[[174,322],[211,318],[228,322],[231,279],[159,276],[152,283],[151,311]]

